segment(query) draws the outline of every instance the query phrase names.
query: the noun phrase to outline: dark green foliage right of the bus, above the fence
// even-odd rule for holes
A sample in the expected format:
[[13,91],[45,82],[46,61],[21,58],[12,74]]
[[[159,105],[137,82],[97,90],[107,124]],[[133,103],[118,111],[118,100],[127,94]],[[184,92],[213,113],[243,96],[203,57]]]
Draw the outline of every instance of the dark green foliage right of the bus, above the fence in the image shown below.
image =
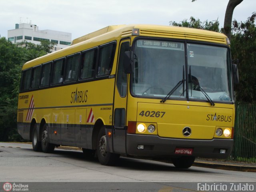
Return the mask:
[[245,22],[233,21],[232,58],[239,60],[240,83],[236,86],[237,100],[256,101],[256,13]]

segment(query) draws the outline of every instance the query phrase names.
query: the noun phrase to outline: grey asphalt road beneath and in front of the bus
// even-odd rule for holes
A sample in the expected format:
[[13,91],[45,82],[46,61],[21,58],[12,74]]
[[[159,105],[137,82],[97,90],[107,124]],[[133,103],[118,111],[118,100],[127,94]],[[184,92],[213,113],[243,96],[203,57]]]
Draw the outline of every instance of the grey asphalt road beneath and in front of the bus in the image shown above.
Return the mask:
[[47,192],[202,191],[200,186],[204,184],[235,182],[240,186],[254,182],[256,190],[253,172],[195,166],[177,169],[164,162],[132,158],[120,158],[116,166],[103,166],[96,158],[84,157],[81,151],[56,149],[46,154],[34,152],[31,144],[0,142],[0,191],[5,182],[28,184],[32,191]]

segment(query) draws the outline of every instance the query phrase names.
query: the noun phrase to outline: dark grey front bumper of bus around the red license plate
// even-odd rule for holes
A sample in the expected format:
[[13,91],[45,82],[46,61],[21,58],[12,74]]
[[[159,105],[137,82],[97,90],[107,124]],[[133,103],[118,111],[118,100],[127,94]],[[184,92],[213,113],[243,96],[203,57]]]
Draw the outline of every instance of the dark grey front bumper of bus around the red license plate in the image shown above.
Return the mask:
[[[231,154],[234,140],[218,139],[195,140],[162,138],[155,135],[127,134],[127,154],[132,156],[180,156],[175,154],[176,148],[192,149],[192,156],[202,158],[228,158]],[[143,149],[138,149],[142,148]],[[226,150],[225,153],[220,151]]]

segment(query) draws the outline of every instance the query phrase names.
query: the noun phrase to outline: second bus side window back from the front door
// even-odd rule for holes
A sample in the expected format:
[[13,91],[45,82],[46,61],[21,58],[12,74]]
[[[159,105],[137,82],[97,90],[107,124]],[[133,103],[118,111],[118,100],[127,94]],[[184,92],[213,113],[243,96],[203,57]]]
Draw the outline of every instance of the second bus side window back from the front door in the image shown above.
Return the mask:
[[90,50],[82,54],[82,68],[80,79],[94,77],[96,56],[97,50]]

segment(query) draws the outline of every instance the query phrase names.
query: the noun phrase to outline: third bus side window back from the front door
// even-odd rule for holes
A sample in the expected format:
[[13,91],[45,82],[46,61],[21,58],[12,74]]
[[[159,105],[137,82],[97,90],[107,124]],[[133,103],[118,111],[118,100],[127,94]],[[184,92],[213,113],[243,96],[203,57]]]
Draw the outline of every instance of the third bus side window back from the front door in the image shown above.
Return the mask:
[[75,81],[78,78],[80,54],[67,58],[65,82]]

